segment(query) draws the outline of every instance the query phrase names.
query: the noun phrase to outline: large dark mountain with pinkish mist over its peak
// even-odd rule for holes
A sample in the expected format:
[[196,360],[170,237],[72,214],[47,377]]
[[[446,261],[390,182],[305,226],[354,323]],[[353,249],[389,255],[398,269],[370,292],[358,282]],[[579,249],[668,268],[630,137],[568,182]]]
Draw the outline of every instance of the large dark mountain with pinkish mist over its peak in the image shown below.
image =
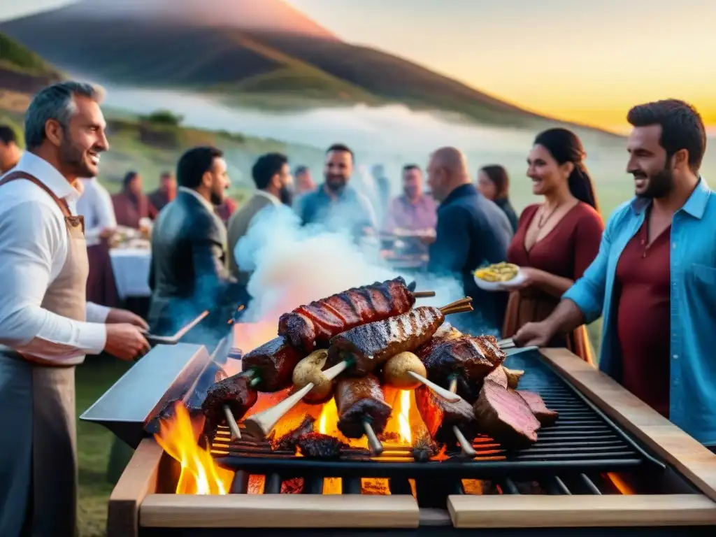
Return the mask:
[[229,100],[401,102],[490,125],[548,118],[405,59],[338,39],[282,0],[82,0],[0,32],[99,82]]

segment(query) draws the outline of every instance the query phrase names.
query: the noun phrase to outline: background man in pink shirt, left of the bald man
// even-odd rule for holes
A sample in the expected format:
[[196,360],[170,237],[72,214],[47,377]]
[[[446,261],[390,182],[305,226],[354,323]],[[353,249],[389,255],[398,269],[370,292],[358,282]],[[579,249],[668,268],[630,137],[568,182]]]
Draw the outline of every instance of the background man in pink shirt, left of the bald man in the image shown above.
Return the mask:
[[437,226],[435,198],[422,188],[422,170],[417,164],[402,169],[403,193],[390,202],[384,229],[395,233],[397,229],[410,231],[434,230]]

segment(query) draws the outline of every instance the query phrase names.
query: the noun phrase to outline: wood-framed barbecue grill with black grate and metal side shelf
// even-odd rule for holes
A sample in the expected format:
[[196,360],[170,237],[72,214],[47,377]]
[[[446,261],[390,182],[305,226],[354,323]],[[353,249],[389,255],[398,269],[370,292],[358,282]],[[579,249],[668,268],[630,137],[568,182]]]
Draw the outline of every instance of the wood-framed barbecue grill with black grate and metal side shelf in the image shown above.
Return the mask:
[[[179,465],[147,429],[178,394],[205,389],[216,365],[203,347],[156,347],[82,415],[134,445],[144,436],[110,498],[108,535],[673,536],[716,527],[715,455],[566,350],[515,354],[507,365],[526,371],[521,389],[560,412],[531,448],[478,438],[473,460],[448,452],[417,463],[384,442],[379,457],[352,448],[340,460],[309,460],[220,428],[209,445],[234,472],[228,493],[194,495],[175,493]],[[169,366],[156,382],[153,370]],[[145,390],[142,402],[122,410],[133,387]]]

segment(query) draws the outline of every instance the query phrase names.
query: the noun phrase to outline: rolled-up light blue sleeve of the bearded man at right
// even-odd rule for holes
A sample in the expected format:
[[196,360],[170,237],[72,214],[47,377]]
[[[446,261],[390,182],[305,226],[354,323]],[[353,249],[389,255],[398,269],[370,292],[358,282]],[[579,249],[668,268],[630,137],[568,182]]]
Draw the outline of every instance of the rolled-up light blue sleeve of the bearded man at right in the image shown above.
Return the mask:
[[584,276],[575,281],[574,285],[562,295],[563,299],[571,300],[576,304],[584,314],[587,323],[599,319],[604,307],[604,286],[606,284],[606,267],[611,251],[612,226],[613,218],[610,218],[601,236],[599,253],[596,254],[596,258],[584,271]]

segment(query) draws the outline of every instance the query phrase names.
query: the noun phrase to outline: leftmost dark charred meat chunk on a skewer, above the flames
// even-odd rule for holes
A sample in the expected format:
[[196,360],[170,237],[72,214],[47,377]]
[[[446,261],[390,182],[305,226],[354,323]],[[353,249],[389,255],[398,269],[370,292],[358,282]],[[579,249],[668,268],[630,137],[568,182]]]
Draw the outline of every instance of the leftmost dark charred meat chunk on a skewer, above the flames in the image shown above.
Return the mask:
[[251,379],[235,374],[228,379],[216,382],[206,394],[206,399],[201,405],[206,417],[204,431],[210,437],[216,433],[216,427],[226,423],[223,405],[228,405],[236,420],[241,420],[248,409],[253,407],[258,399],[258,394],[250,385]]

